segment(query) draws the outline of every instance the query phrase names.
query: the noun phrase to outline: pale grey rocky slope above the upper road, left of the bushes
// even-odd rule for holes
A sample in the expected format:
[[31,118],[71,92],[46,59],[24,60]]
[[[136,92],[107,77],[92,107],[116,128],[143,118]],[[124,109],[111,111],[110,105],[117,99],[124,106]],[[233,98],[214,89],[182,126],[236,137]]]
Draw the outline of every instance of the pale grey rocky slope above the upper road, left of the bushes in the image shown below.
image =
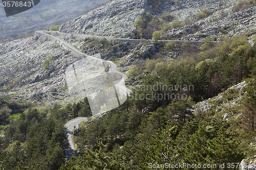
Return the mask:
[[59,31],[88,35],[130,37],[134,21],[146,13],[145,0],[112,1],[85,15],[63,23]]

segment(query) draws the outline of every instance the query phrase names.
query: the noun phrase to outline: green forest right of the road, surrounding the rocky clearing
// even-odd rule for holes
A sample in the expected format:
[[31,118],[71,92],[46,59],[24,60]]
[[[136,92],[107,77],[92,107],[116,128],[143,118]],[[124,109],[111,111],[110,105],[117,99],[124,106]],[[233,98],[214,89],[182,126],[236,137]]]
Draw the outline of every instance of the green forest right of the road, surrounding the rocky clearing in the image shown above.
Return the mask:
[[[160,42],[155,45],[161,48]],[[196,58],[147,59],[135,65],[130,76],[141,81],[133,94],[164,93],[144,88],[156,84],[193,84],[194,91],[172,91],[186,93],[186,100],[127,100],[93,123],[82,124],[75,137],[79,156],[60,169],[151,169],[149,163],[197,163],[212,165],[207,169],[230,169],[219,165],[250,158],[255,153],[250,143],[256,142],[255,52],[256,47],[249,49],[245,37],[233,37],[217,46],[206,42]],[[251,83],[241,107],[242,118],[227,122],[215,116],[215,110],[193,114],[196,102],[243,80]]]

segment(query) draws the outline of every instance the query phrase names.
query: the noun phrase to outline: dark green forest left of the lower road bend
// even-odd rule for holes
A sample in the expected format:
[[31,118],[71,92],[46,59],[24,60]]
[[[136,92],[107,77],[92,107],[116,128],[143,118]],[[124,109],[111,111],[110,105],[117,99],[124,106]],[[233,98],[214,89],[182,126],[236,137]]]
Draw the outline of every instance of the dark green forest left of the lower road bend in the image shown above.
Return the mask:
[[5,128],[4,138],[0,137],[0,169],[58,169],[66,161],[68,139],[64,124],[78,116],[92,115],[87,98],[64,108],[38,108],[7,98],[1,104],[5,108],[1,109],[1,121],[6,123],[12,109],[25,111]]

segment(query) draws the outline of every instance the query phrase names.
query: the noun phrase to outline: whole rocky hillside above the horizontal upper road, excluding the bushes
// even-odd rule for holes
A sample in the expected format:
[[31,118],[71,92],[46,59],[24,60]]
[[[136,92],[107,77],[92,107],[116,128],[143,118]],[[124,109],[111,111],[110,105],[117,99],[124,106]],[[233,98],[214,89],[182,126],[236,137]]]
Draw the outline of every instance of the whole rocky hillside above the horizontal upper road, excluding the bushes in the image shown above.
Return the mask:
[[[150,12],[157,19],[164,14],[172,16],[172,20],[166,21],[167,25],[184,22],[183,27],[168,27],[164,33],[168,38],[199,41],[212,37],[219,40],[222,35],[251,36],[255,32],[255,7],[246,1],[244,4],[238,4],[238,0],[157,2],[160,5],[155,7],[147,0],[115,0],[63,23],[59,30],[65,33],[129,38],[136,30],[135,20],[138,16]],[[254,38],[249,37],[249,40],[253,42]]]

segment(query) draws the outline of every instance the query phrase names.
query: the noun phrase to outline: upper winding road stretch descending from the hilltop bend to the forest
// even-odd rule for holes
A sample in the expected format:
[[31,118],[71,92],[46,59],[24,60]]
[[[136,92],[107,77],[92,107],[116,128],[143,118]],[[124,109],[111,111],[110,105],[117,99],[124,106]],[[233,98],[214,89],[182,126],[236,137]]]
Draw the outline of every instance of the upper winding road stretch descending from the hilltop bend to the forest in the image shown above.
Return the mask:
[[125,79],[127,78],[127,76],[125,76],[124,74],[122,74],[122,72],[118,71],[118,70],[116,69],[116,64],[114,64],[113,62],[111,62],[111,61],[106,61],[106,60],[102,60],[102,59],[99,59],[99,58],[96,58],[96,57],[93,57],[93,56],[89,56],[89,55],[87,55],[87,54],[84,54],[84,53],[80,52],[79,50],[77,50],[77,48],[75,48],[75,47],[73,47],[72,45],[70,45],[69,43],[67,43],[66,41],[63,41],[62,39],[59,39],[59,38],[57,38],[57,37],[55,37],[55,36],[52,36],[52,35],[50,35],[50,34],[47,34],[47,33],[45,33],[45,31],[36,31],[36,32],[38,32],[39,34],[43,34],[43,35],[49,36],[49,37],[51,37],[51,38],[54,38],[55,40],[59,41],[59,43],[61,44],[61,46],[64,44],[64,45],[66,45],[67,47],[69,47],[71,50],[73,50],[74,52],[76,52],[76,53],[78,53],[78,54],[80,54],[80,55],[82,55],[82,56],[84,56],[84,57],[90,57],[90,58],[93,58],[93,59],[95,59],[95,60],[101,60],[101,61],[103,61],[103,62],[105,62],[105,63],[110,64],[110,65],[111,65],[111,70],[112,70],[113,72],[115,72],[116,74],[118,74],[118,75],[121,76],[121,79],[120,79],[120,80],[115,81],[115,82],[113,82],[113,83],[114,83],[115,85],[117,85],[120,89],[122,89],[123,91],[125,91],[127,94],[130,94],[130,93],[132,92],[130,89],[126,88],[126,87],[123,85]]

